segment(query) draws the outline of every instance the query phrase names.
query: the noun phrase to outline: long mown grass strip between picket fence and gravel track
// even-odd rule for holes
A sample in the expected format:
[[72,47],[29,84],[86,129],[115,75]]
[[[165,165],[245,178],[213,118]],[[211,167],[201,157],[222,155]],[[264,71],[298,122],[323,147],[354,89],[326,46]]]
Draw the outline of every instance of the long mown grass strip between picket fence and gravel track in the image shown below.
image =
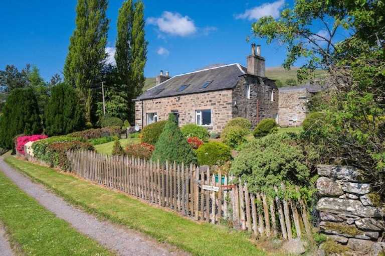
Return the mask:
[[57,173],[51,168],[12,157],[6,158],[6,162],[89,212],[159,241],[167,241],[194,255],[267,254],[258,249],[244,232],[229,232],[225,226],[200,224],[73,176]]

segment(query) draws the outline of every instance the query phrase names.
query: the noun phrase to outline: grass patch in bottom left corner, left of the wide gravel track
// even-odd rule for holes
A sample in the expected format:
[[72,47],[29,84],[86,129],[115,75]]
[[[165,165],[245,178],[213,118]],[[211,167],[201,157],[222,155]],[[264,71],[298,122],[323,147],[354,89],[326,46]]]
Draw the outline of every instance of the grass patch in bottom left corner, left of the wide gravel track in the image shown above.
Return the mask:
[[113,255],[73,229],[0,172],[0,221],[23,255]]

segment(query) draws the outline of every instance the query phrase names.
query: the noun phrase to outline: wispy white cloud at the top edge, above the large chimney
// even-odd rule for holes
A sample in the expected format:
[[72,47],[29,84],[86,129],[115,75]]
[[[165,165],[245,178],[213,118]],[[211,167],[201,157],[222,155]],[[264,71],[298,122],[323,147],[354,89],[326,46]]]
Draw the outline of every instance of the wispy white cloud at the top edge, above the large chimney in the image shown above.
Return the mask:
[[258,20],[265,16],[272,16],[274,19],[279,18],[279,12],[285,5],[285,0],[278,0],[273,3],[263,4],[262,6],[254,7],[246,10],[243,14],[235,16],[236,19]]

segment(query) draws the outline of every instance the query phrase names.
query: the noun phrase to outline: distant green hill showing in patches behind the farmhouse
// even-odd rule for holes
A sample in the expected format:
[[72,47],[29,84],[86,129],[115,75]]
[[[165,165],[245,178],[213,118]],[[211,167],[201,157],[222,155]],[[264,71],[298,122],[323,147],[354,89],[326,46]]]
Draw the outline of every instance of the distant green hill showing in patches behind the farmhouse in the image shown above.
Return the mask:
[[[213,66],[217,66],[217,64],[207,66],[203,69],[206,69],[208,67],[213,67]],[[276,84],[278,87],[295,86],[295,85],[299,85],[297,80],[298,69],[299,69],[298,67],[292,67],[290,70],[285,70],[282,66],[268,67],[266,68],[266,76],[276,80]],[[323,72],[324,72],[323,70],[315,71],[316,76],[321,76]],[[155,86],[155,78],[154,77],[146,78],[143,91],[151,88],[152,86]]]

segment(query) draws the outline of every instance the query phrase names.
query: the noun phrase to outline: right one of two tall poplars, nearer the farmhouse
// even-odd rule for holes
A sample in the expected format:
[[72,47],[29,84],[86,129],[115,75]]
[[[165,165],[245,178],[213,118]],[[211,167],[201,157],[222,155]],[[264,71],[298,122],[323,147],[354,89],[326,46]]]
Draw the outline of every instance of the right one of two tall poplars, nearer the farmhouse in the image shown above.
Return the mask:
[[144,5],[127,0],[119,9],[116,38],[116,67],[121,88],[127,92],[128,119],[134,121],[135,104],[132,99],[140,95],[144,86],[144,66],[148,42],[144,31]]

